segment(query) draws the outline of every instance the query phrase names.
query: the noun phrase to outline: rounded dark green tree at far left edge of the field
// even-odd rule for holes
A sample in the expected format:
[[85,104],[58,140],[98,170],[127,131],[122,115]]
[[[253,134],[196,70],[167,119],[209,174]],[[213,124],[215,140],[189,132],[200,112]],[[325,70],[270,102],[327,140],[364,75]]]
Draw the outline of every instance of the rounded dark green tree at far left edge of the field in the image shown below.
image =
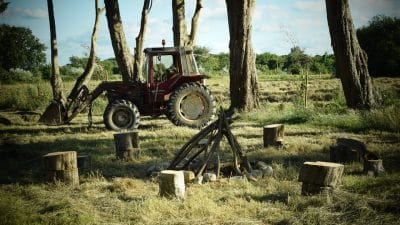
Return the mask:
[[29,28],[0,25],[0,67],[36,70],[46,62],[45,50]]

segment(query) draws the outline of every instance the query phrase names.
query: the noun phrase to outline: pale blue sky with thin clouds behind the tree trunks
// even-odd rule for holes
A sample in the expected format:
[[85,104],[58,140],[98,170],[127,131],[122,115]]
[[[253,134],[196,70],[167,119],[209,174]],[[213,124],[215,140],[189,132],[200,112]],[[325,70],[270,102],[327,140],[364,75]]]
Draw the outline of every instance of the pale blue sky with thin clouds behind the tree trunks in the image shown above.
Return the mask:
[[[6,0],[10,2],[0,23],[28,27],[47,46],[50,55],[50,31],[46,0]],[[94,24],[94,0],[53,0],[61,65],[69,57],[88,54]],[[102,0],[99,0],[103,4]],[[365,26],[376,15],[400,16],[400,0],[349,0],[356,28]],[[133,53],[139,32],[143,0],[119,0],[128,45]],[[188,29],[195,0],[186,0]],[[225,0],[203,0],[196,45],[213,53],[229,52],[229,29]],[[105,13],[101,18],[97,55],[114,57]],[[256,53],[285,55],[299,46],[309,55],[332,53],[324,0],[256,0],[252,41]],[[173,45],[171,0],[153,0],[145,47],[157,47],[161,40]]]

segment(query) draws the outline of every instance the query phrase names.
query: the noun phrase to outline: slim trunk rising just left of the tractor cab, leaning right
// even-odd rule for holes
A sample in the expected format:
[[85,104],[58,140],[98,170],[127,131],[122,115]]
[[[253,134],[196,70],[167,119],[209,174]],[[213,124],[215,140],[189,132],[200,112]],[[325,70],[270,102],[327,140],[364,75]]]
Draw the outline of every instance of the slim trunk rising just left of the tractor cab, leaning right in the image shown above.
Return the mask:
[[147,30],[147,18],[151,9],[152,0],[144,0],[142,9],[142,19],[140,21],[140,31],[136,37],[135,57],[133,63],[133,73],[136,74],[138,79],[142,77],[142,64],[143,64],[143,42],[144,35]]

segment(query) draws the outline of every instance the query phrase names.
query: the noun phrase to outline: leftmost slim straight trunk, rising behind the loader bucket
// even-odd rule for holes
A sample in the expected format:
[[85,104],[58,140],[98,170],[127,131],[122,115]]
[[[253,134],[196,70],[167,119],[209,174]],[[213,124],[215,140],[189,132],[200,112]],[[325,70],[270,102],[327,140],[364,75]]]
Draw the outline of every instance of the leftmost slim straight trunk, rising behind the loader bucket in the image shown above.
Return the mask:
[[47,0],[47,8],[49,11],[50,22],[50,41],[51,41],[51,87],[53,89],[53,99],[64,106],[65,99],[63,93],[63,82],[60,76],[60,68],[58,65],[58,49],[56,23],[54,19],[53,0]]

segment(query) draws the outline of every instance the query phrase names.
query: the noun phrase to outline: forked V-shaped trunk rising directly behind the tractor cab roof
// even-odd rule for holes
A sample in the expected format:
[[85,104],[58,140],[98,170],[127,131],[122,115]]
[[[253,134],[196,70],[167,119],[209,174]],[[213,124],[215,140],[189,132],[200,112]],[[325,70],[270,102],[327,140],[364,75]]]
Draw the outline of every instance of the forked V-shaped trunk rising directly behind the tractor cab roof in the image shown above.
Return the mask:
[[196,9],[192,17],[190,34],[188,34],[185,20],[185,0],[172,0],[174,46],[194,46],[201,8],[203,8],[202,0],[196,0]]

